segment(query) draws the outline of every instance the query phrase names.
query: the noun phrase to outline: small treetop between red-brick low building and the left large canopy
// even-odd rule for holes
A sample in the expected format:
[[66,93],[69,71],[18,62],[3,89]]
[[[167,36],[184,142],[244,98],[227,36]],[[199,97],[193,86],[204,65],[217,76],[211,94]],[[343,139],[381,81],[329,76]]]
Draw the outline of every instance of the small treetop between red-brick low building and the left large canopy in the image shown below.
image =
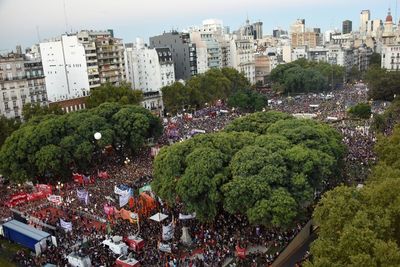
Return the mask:
[[86,100],[86,106],[87,108],[94,108],[105,102],[138,105],[142,99],[142,91],[132,90],[129,83],[122,83],[119,86],[107,83],[90,91],[90,96]]

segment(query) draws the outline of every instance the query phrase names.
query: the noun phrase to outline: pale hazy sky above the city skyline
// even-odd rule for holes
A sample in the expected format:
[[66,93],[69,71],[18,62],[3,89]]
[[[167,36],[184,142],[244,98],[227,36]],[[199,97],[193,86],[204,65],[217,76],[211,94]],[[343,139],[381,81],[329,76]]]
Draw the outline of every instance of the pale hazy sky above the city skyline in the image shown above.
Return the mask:
[[264,23],[264,35],[275,27],[289,29],[297,18],[306,19],[306,27],[322,30],[340,29],[342,21],[350,19],[354,29],[362,9],[384,20],[389,7],[396,19],[396,0],[0,0],[0,54],[67,30],[114,29],[124,42],[136,37],[148,42],[163,31],[218,18],[232,31],[247,15]]

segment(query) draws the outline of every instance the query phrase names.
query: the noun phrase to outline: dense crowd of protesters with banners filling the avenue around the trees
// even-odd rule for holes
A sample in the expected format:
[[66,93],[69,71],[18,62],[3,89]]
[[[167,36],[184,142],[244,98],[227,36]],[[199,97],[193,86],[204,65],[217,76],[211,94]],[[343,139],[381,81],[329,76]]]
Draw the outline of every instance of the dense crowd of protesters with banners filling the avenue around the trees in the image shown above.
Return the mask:
[[[314,114],[316,119],[332,123],[343,135],[343,142],[348,147],[345,172],[349,178],[355,177],[355,181],[348,182],[362,183],[371,163],[376,160],[372,149],[376,139],[370,130],[371,120],[349,120],[346,110],[353,104],[366,101],[367,88],[359,84],[328,94],[310,93],[295,97],[270,95],[268,108],[291,114]],[[379,112],[385,107],[386,104],[375,106]],[[240,111],[219,103],[194,114],[183,113],[165,119],[165,131],[156,146],[178,142],[201,132],[219,131],[242,115],[244,114]],[[104,157],[101,166],[86,175],[95,177],[99,171],[106,171],[109,179],[97,178],[94,183],[83,187],[73,182],[59,185],[55,192],[63,197],[63,203],[59,206],[50,205],[47,200],[18,206],[17,209],[28,221],[33,216],[44,224],[55,227],[53,234],[57,238],[58,246],[49,244],[48,249],[38,257],[19,251],[14,257],[15,262],[21,266],[42,266],[45,263],[64,266],[67,263],[66,256],[77,252],[90,255],[95,266],[113,266],[117,255],[103,246],[102,241],[109,235],[129,236],[139,233],[145,240],[145,247],[134,253],[134,257],[142,266],[222,266],[228,259],[235,259],[236,247],[254,249],[254,253],[246,259],[237,259],[236,266],[268,265],[302,228],[304,222],[298,222],[296,227],[286,231],[271,230],[249,225],[244,217],[225,213],[219,214],[212,224],[202,224],[196,219],[179,220],[179,213],[184,213],[182,206],[170,208],[158,201],[154,212],[167,214],[167,222],[173,222],[175,229],[171,253],[160,251],[158,245],[163,242],[161,233],[165,222],[146,218],[139,220],[137,224],[121,219],[110,222],[103,208],[106,203],[119,207],[118,198],[114,194],[116,185],[124,184],[137,192],[139,188],[149,184],[152,180],[152,161],[150,148],[143,148],[134,158],[126,158],[118,163],[113,155]],[[77,190],[80,189],[88,192],[87,203],[77,198]],[[30,189],[29,186],[25,188],[25,185],[9,185],[2,186],[0,190],[0,200],[4,203],[9,195]],[[157,197],[155,199],[158,200]],[[9,208],[0,208],[0,217],[3,220],[8,220],[11,216]],[[71,222],[72,231],[61,228],[60,219]],[[35,227],[46,230],[43,224],[36,224]],[[190,246],[184,246],[180,242],[183,227],[188,227],[192,237]],[[264,248],[267,252],[258,251],[257,248]]]

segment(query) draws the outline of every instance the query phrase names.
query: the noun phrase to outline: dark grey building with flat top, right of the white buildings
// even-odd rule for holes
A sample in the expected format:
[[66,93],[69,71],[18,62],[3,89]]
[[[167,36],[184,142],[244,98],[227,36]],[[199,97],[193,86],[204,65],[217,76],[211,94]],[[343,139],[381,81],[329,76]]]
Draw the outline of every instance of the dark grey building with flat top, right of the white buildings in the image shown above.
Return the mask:
[[196,44],[190,41],[189,34],[173,31],[150,37],[150,48],[170,49],[177,80],[197,75]]

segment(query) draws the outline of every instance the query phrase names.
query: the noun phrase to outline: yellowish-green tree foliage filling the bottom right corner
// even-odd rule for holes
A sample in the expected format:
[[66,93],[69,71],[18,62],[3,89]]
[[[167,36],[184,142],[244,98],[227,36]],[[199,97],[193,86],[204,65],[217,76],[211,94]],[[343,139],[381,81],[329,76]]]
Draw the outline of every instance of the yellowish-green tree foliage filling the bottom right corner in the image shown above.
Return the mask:
[[380,136],[379,163],[363,187],[326,193],[313,217],[319,226],[306,266],[400,266],[400,126]]

